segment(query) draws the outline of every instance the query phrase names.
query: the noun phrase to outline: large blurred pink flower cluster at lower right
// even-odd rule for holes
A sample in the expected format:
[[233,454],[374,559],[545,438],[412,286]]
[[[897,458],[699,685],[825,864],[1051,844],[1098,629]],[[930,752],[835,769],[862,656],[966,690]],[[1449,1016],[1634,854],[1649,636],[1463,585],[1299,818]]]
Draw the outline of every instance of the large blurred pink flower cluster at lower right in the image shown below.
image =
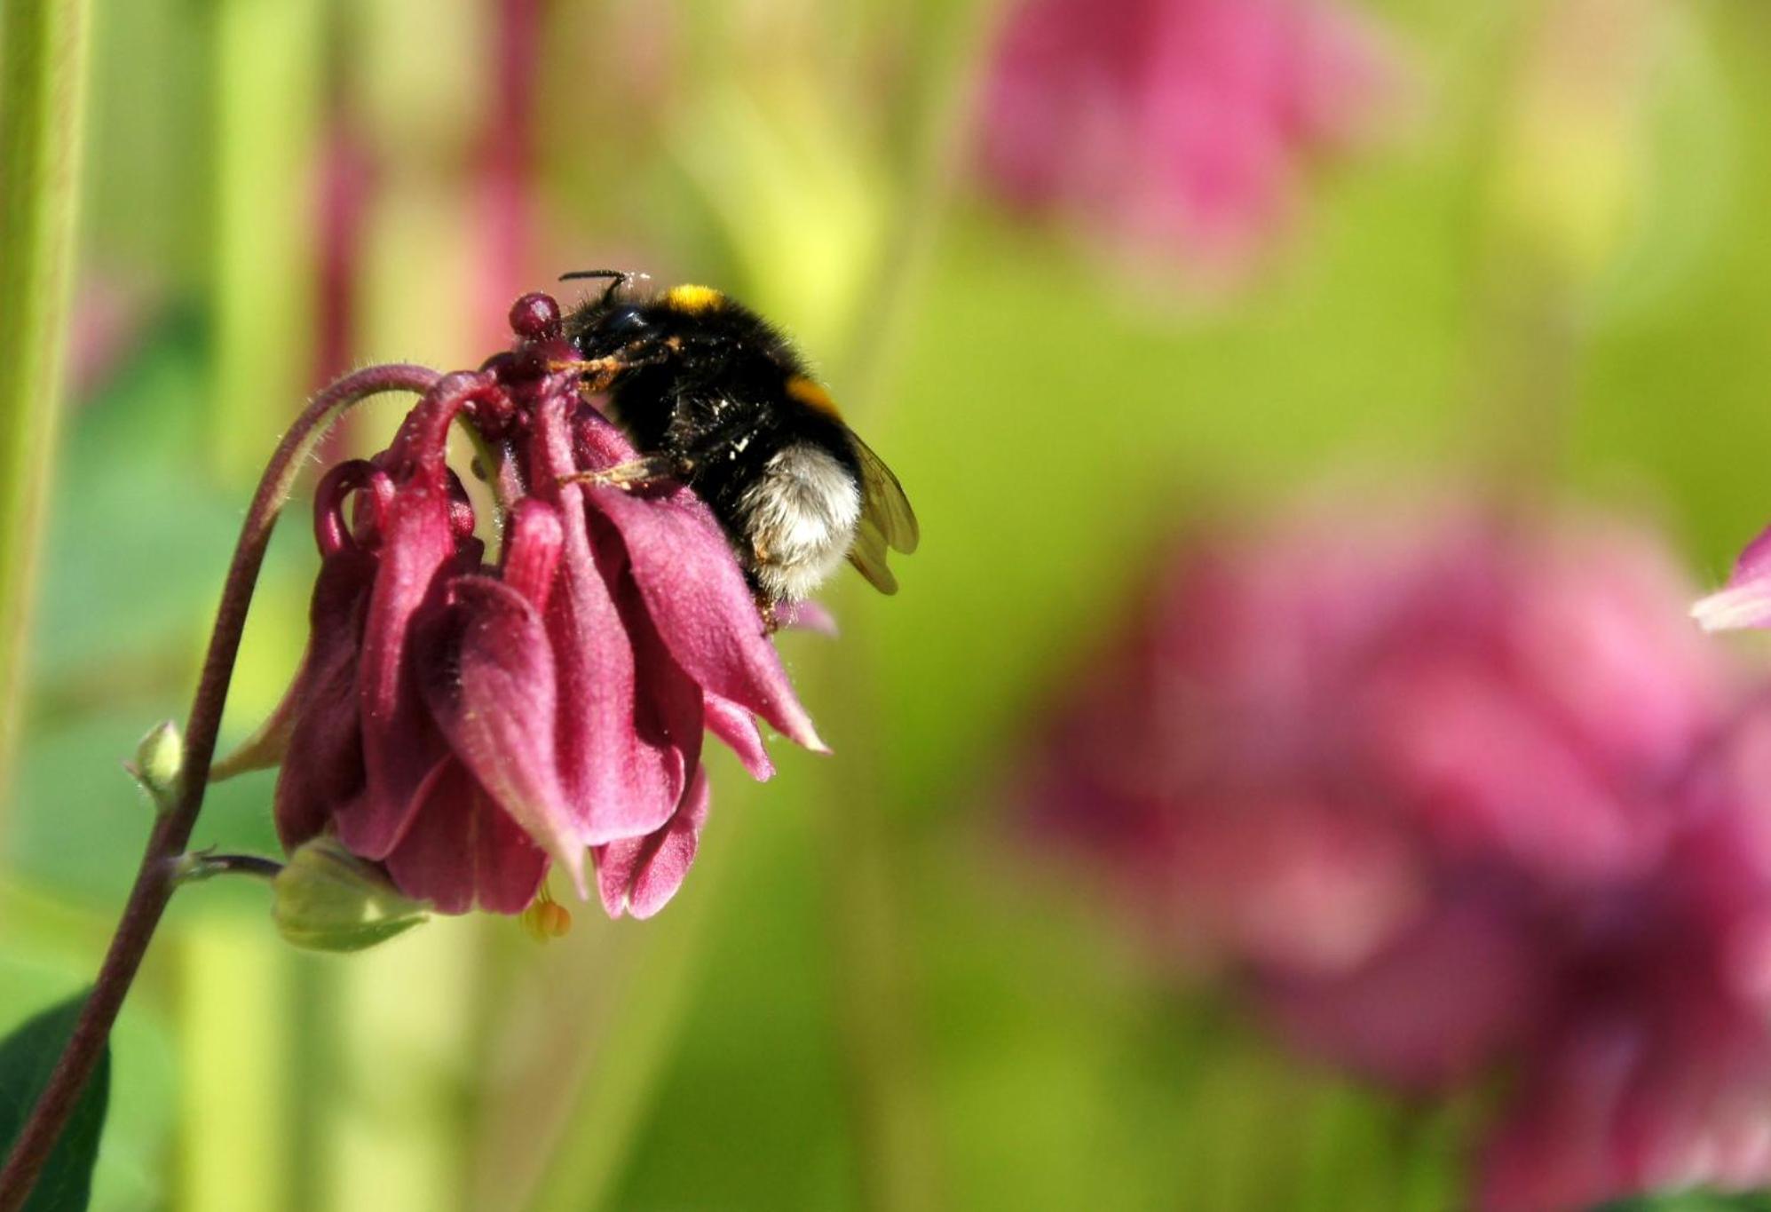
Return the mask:
[[1482,1208],[1767,1182],[1771,712],[1684,601],[1592,519],[1199,535],[1029,824],[1295,1045],[1413,1093],[1511,1067]]

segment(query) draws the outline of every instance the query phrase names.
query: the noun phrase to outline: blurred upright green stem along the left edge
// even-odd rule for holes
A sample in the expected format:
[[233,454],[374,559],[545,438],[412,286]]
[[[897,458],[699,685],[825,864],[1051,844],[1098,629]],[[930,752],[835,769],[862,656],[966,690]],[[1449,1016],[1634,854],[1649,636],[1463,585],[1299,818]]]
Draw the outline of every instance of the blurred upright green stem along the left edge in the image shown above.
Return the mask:
[[0,794],[11,783],[80,195],[87,0],[0,5]]

